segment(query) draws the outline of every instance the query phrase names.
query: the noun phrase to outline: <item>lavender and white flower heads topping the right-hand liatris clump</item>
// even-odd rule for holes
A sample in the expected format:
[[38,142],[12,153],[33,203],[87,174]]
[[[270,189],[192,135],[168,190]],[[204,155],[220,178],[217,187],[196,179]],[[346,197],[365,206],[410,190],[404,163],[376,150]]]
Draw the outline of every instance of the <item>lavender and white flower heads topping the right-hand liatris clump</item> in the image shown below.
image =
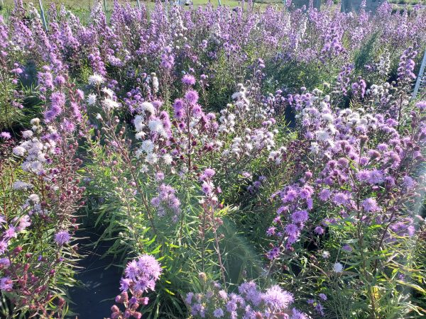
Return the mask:
[[[350,109],[332,111],[329,96],[321,101],[313,94],[300,113],[302,145],[307,150],[306,160],[312,164],[305,164],[307,170],[294,184],[273,194],[283,205],[267,234],[280,238],[280,245],[285,242],[289,249],[307,223],[316,221],[319,225],[310,227],[323,235],[328,225],[344,220],[385,225],[399,236],[412,236],[414,221],[403,206],[422,189],[422,177],[413,179],[413,172],[424,160],[421,150],[426,135],[421,106],[422,102],[417,103],[417,109],[410,113],[415,129],[401,135],[393,118]],[[297,162],[300,164],[304,163]],[[317,210],[316,206],[337,210],[339,217],[319,220],[316,213],[308,222],[308,212]],[[382,241],[392,237],[385,231]],[[268,252],[269,259],[278,257],[280,245]]]

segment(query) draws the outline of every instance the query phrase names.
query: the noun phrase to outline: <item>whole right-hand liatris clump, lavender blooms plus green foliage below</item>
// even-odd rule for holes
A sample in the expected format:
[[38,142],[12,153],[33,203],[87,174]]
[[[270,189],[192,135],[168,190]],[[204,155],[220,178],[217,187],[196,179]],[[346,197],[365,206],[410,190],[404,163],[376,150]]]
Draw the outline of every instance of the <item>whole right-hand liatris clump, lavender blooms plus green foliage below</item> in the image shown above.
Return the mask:
[[[342,306],[351,302],[337,294],[337,283],[359,279],[365,284],[353,286],[352,291],[357,291],[359,298],[364,296],[364,305],[368,305],[359,308],[359,313],[366,311],[377,318],[382,315],[383,303],[403,303],[401,298],[406,298],[401,293],[396,301],[379,291],[391,282],[405,286],[413,280],[410,274],[404,274],[403,280],[396,273],[389,278],[386,272],[400,262],[409,263],[405,250],[410,248],[406,245],[420,218],[415,210],[423,184],[422,102],[411,111],[410,125],[400,133],[394,118],[349,109],[334,111],[329,96],[322,101],[318,95],[312,97],[313,103],[300,113],[303,139],[299,143],[305,151],[303,159],[295,163],[296,179],[273,194],[280,206],[267,231],[268,236],[277,238],[268,252],[272,261],[269,271],[280,269],[277,260],[291,260],[290,252],[300,252],[294,247],[300,240],[312,240],[322,247],[321,237],[327,232],[327,245],[341,245],[332,255],[332,260],[339,262],[329,264],[330,254],[320,252],[322,261],[315,259],[315,266],[306,272],[320,271],[331,280],[334,302]],[[400,250],[393,250],[396,246]],[[393,257],[388,259],[391,251]],[[381,278],[388,278],[387,284],[371,286]]]

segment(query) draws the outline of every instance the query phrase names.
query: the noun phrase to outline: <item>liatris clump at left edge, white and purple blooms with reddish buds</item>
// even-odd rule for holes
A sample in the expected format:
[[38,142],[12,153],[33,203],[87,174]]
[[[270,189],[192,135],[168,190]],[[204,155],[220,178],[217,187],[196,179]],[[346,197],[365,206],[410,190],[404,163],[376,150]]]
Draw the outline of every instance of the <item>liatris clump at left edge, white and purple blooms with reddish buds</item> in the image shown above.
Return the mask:
[[11,315],[48,318],[67,313],[62,283],[75,281],[71,240],[84,189],[77,145],[38,118],[31,123],[21,142],[9,140],[1,150],[0,289],[13,305]]

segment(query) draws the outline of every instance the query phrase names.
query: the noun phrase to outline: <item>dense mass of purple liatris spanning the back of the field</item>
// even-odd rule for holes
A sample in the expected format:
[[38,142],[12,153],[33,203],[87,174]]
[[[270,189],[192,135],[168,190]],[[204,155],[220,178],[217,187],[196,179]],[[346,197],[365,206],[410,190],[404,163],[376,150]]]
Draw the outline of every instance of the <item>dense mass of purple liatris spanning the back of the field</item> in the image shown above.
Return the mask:
[[[180,82],[182,74],[193,74],[203,79],[205,101],[219,111],[234,86],[252,77],[259,59],[263,67],[258,76],[268,79],[261,84],[265,91],[314,89],[339,77],[342,90],[337,94],[350,96],[346,80],[389,79],[405,72],[410,61],[420,58],[412,53],[425,46],[424,11],[392,13],[388,5],[377,15],[351,16],[331,6],[307,14],[272,7],[258,13],[244,6],[236,11],[226,6],[166,10],[157,4],[148,16],[144,6],[116,3],[109,23],[102,10],[98,1],[82,23],[65,8],[52,6],[50,32],[45,33],[37,11],[25,11],[17,1],[10,23],[0,23],[5,77],[16,78],[20,70],[20,77],[29,76],[23,68],[28,60],[38,69],[53,60],[53,68],[66,67],[77,82],[94,72],[109,77],[108,86],[120,99],[129,98],[128,92],[139,86],[143,94],[154,94],[152,100],[161,93],[173,101],[186,85]],[[31,17],[28,23],[23,22],[26,15]],[[408,47],[413,49],[408,52]],[[398,65],[403,52],[407,63]],[[147,92],[143,82],[151,72],[156,85]]]

